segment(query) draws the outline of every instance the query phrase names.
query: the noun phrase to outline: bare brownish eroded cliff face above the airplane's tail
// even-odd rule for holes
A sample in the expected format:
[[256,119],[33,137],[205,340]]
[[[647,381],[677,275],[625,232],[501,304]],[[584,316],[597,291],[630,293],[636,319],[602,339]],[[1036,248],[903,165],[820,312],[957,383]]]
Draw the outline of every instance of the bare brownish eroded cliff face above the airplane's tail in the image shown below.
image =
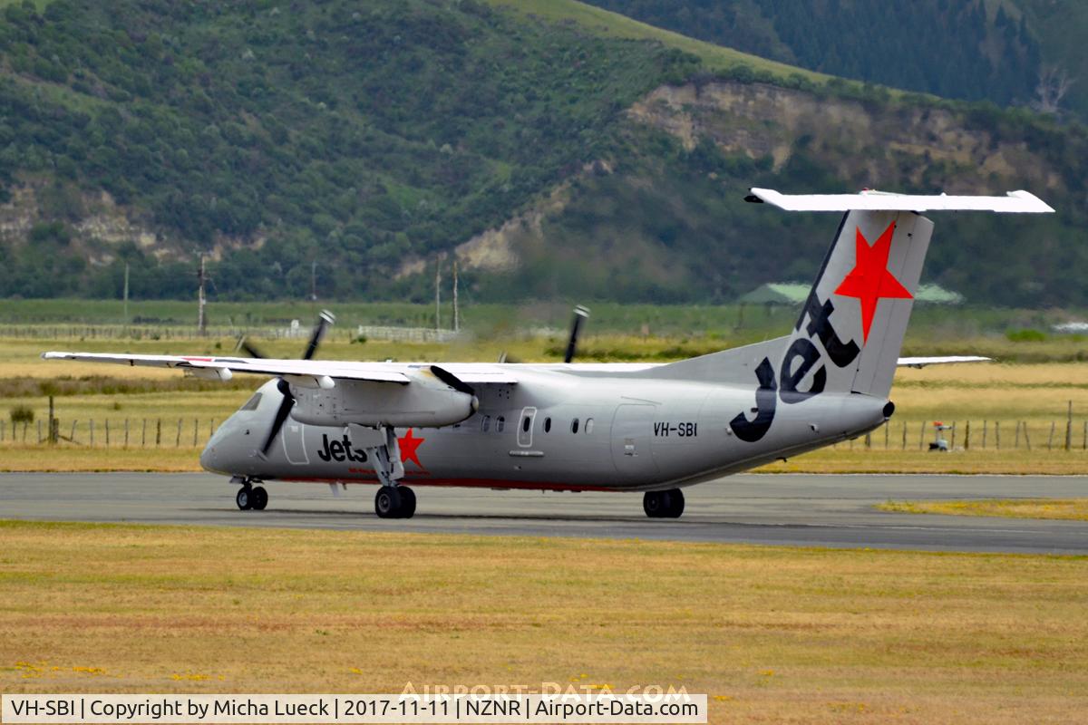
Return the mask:
[[770,157],[782,168],[799,149],[841,178],[902,190],[1064,190],[1023,140],[1000,140],[961,114],[902,103],[866,103],[763,84],[663,86],[629,115],[691,150],[704,139],[727,153]]

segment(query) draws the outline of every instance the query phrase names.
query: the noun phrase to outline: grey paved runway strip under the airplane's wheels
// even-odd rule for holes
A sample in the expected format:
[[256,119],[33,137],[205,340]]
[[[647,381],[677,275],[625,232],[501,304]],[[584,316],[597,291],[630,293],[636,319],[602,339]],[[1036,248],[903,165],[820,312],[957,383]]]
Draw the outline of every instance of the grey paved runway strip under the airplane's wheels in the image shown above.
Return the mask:
[[382,532],[586,536],[1088,554],[1088,522],[883,513],[894,500],[1088,496],[1088,477],[739,475],[685,489],[679,520],[648,520],[641,493],[419,487],[415,518],[373,513],[372,486],[267,484],[265,511],[205,474],[0,474],[0,517]]

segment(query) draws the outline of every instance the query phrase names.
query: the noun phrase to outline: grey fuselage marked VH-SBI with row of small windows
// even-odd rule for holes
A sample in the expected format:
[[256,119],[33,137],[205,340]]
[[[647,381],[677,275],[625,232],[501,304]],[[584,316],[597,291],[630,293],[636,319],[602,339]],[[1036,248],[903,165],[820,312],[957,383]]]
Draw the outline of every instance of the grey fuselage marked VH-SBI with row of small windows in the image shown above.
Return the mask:
[[[730,422],[756,414],[754,379],[731,385],[581,373],[577,365],[509,368],[518,383],[483,386],[478,410],[460,423],[396,428],[405,466],[399,483],[664,490],[852,438],[886,420],[886,399],[827,391],[779,405],[766,434],[745,441]],[[292,416],[261,455],[281,397],[275,380],[260,393],[256,408],[239,410],[212,436],[200,457],[205,468],[261,480],[378,483],[347,426]]]

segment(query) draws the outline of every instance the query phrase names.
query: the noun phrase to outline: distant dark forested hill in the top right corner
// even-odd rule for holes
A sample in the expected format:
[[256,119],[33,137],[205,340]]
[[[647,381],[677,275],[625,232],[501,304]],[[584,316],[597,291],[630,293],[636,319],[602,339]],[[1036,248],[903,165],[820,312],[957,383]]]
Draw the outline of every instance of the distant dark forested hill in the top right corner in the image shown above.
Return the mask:
[[[1038,104],[1051,71],[1088,80],[1081,0],[588,1],[783,63],[945,98]],[[1066,88],[1061,108],[1088,117],[1084,85]]]

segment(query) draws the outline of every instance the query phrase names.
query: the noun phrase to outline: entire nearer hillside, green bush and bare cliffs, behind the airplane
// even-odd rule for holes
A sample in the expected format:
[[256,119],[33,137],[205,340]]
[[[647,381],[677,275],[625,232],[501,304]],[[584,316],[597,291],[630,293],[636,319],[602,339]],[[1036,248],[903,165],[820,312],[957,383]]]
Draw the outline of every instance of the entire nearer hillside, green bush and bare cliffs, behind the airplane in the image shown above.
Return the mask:
[[928,278],[1088,304],[1075,123],[573,0],[0,12],[0,297],[116,297],[126,263],[136,297],[187,297],[202,251],[228,299],[305,297],[317,261],[324,298],[423,300],[456,254],[469,300],[731,300],[811,277],[832,230],[740,201],[761,185],[1029,188],[1061,213],[942,217]]

